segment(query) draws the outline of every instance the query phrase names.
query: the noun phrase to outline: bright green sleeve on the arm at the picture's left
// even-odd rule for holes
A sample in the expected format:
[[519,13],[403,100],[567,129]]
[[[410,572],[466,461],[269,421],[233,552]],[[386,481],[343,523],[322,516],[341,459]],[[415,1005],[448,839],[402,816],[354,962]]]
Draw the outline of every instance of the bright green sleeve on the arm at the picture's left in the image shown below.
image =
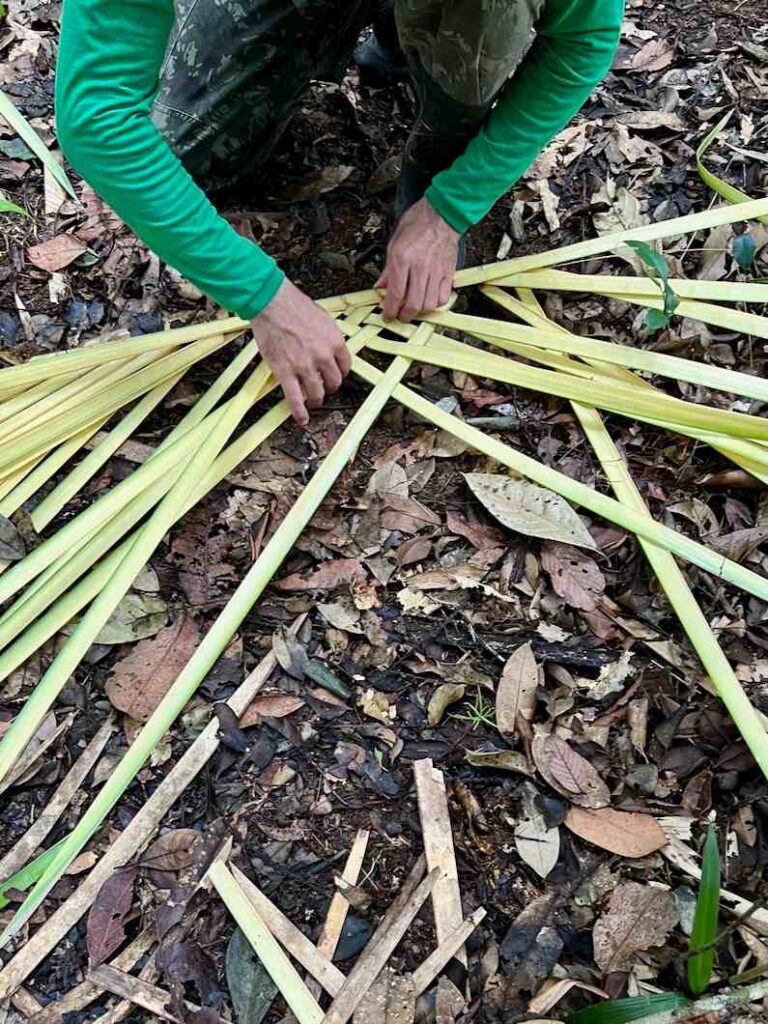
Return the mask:
[[150,112],[172,0],[65,0],[56,129],[73,167],[161,259],[246,319],[283,282],[216,212]]

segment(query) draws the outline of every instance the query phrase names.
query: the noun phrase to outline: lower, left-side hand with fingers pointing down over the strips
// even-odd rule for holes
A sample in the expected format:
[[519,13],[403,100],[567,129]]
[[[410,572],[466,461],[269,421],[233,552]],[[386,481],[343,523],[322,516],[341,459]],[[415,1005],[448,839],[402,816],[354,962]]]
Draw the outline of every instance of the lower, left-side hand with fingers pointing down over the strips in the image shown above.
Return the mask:
[[294,420],[306,426],[307,408],[318,409],[349,373],[344,336],[328,313],[288,279],[251,326]]

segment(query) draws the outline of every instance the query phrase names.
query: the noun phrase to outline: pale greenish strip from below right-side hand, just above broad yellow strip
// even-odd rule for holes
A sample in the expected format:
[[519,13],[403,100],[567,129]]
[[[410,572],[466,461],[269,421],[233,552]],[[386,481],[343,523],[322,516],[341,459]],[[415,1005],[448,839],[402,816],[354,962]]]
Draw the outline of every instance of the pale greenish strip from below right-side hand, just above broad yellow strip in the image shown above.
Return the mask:
[[610,341],[599,341],[596,338],[580,338],[577,335],[562,334],[552,329],[525,327],[506,321],[489,319],[485,316],[468,316],[444,310],[426,313],[422,318],[429,324],[465,331],[467,334],[475,336],[482,335],[502,338],[506,341],[520,341],[539,348],[549,348],[567,352],[569,355],[579,355],[585,359],[599,359],[602,362],[617,364],[634,370],[644,370],[663,377],[670,377],[673,380],[688,381],[691,384],[699,384],[703,387],[768,401],[768,381],[734,370],[724,370],[720,367],[695,362],[692,359],[682,359],[677,355],[667,355],[645,348],[633,348],[630,345],[618,345]]

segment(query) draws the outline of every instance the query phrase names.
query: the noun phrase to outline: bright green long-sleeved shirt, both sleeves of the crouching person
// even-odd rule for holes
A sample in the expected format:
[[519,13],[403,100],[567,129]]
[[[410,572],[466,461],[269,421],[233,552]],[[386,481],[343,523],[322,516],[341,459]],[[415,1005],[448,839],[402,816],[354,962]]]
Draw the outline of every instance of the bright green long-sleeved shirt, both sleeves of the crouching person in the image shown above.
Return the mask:
[[[427,198],[457,230],[480,220],[610,67],[623,0],[546,0],[537,39],[465,153]],[[215,302],[259,313],[283,272],[198,187],[150,113],[172,0],[65,0],[56,126],[71,164],[153,249]]]

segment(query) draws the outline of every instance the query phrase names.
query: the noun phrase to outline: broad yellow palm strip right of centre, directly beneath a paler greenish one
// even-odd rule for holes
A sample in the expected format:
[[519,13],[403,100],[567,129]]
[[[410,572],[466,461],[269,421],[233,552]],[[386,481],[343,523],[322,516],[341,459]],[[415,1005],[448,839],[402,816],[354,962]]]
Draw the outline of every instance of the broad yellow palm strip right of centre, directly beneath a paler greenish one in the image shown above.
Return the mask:
[[589,381],[551,370],[540,370],[518,362],[516,359],[462,345],[461,342],[456,342],[450,347],[430,345],[419,352],[413,352],[409,342],[383,341],[376,338],[370,342],[370,347],[389,355],[402,355],[446,370],[460,370],[534,391],[543,391],[545,394],[558,395],[561,398],[593,402],[617,416],[641,420],[650,417],[671,423],[687,424],[715,433],[732,434],[736,437],[768,438],[768,420],[757,416],[744,416],[741,413],[728,413],[695,406],[679,398],[670,398],[662,393],[648,394],[644,389],[629,387],[617,381],[605,382],[598,374]]

